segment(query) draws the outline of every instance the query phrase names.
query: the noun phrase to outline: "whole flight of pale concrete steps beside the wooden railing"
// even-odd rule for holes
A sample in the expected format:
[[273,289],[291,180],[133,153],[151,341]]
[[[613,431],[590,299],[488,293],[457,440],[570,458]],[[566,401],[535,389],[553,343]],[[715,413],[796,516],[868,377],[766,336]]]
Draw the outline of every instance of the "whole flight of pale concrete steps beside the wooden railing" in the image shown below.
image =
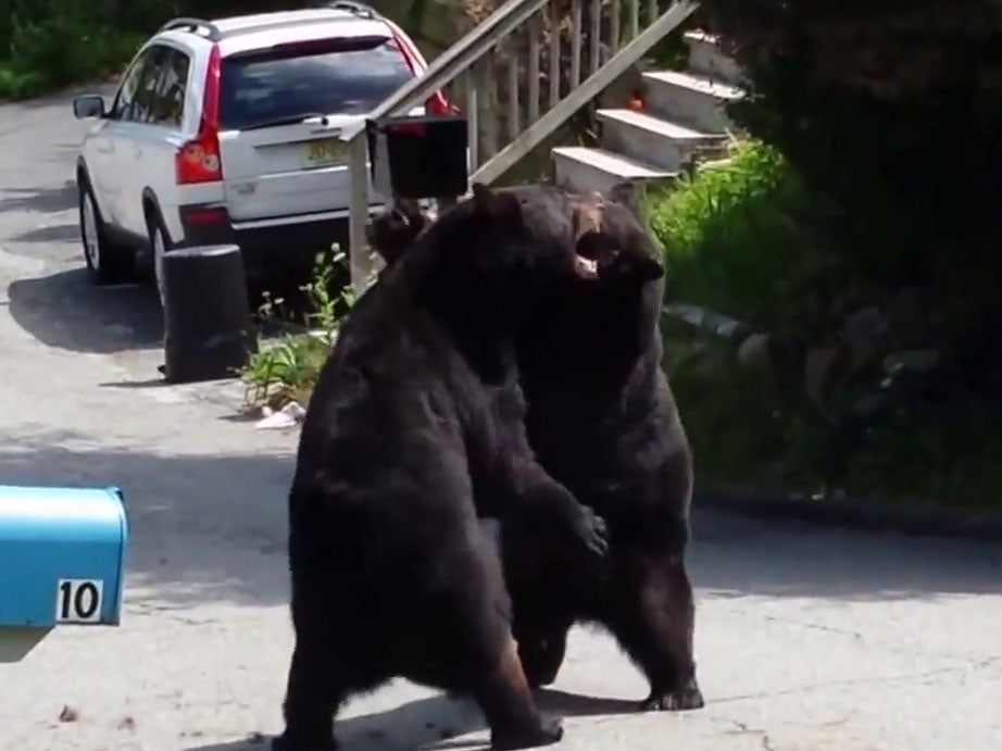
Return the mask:
[[725,153],[730,126],[724,108],[743,96],[741,73],[713,37],[687,32],[685,39],[688,71],[642,73],[641,107],[597,111],[599,148],[552,150],[558,185],[604,191],[623,180],[671,179],[693,159]]

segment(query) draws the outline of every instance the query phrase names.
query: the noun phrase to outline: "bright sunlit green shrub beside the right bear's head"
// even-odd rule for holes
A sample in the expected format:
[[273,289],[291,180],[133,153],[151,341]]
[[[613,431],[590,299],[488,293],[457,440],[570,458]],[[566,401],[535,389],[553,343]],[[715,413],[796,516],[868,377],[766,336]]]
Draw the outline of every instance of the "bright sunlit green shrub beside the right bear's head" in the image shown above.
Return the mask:
[[729,160],[648,202],[673,300],[774,326],[829,266],[814,229],[822,201],[760,141],[737,141]]

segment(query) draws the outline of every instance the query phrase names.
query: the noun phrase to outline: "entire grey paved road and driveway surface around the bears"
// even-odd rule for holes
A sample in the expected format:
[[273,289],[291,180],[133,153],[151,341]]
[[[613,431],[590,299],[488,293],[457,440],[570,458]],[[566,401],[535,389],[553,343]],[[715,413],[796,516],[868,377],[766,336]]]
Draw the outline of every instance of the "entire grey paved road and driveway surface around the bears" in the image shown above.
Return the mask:
[[[152,296],[83,273],[80,134],[65,100],[0,105],[0,478],[121,484],[134,552],[121,628],[59,630],[0,666],[0,749],[254,751],[290,649],[295,435],[239,422],[233,387],[155,385]],[[642,681],[580,630],[542,697],[572,717],[561,748],[1002,748],[1002,551],[710,515],[697,531],[706,709],[631,714]],[[346,717],[347,749],[486,738],[468,705],[402,683]]]

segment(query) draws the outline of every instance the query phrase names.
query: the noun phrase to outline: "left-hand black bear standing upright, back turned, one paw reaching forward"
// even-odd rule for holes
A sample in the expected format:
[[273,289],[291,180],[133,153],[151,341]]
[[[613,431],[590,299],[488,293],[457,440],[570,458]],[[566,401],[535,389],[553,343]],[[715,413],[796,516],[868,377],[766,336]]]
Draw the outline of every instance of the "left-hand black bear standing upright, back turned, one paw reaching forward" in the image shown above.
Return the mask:
[[537,231],[513,196],[476,186],[358,301],[289,492],[296,646],[273,748],[333,748],[337,708],[394,677],[472,694],[494,748],[560,739],[478,516],[524,516],[580,571],[601,564],[603,522],[533,459],[514,362],[535,305],[596,277],[563,227]]

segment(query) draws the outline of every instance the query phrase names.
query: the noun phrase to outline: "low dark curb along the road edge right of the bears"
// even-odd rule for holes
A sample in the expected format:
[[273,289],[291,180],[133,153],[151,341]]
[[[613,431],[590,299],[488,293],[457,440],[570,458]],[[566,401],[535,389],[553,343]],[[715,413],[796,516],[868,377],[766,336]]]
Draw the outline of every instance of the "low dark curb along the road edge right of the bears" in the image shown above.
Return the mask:
[[759,521],[800,522],[869,533],[898,533],[1002,542],[1002,514],[975,513],[932,506],[906,506],[856,499],[811,500],[802,495],[768,493],[750,488],[706,485],[692,499],[699,509]]

